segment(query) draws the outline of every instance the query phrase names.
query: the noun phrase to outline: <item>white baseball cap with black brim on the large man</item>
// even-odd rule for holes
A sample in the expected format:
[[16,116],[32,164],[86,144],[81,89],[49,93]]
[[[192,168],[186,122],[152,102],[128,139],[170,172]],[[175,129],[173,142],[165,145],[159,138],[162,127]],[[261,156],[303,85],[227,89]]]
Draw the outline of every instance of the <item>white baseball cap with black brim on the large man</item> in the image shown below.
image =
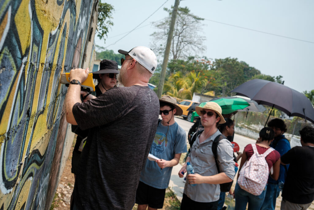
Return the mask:
[[150,73],[154,74],[154,71],[157,67],[157,57],[153,50],[147,47],[138,46],[128,52],[121,49],[119,49],[118,52],[124,55],[130,55],[139,64],[144,66]]

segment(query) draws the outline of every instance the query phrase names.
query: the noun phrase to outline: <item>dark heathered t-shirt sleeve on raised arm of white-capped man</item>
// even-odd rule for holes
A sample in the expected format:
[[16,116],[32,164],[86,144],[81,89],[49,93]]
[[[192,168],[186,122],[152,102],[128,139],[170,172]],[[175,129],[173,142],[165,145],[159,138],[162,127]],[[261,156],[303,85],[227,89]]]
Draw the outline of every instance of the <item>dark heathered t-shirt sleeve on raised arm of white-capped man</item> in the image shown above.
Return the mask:
[[105,125],[125,114],[134,98],[123,88],[112,88],[95,99],[74,104],[72,111],[82,129]]

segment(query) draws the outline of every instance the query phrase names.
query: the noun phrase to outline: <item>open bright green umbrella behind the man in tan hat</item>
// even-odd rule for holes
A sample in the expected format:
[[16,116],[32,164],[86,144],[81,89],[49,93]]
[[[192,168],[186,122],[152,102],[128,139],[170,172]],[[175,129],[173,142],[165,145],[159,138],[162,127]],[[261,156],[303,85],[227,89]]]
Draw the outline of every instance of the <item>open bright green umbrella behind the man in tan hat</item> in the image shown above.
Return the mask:
[[[234,98],[234,99],[217,99],[213,100],[212,102],[216,102],[222,109],[222,114],[230,114],[238,109],[244,109],[245,107],[249,106],[250,104],[246,102],[246,100],[241,98]],[[203,107],[207,102],[200,103],[198,106]],[[194,116],[198,116],[195,113]]]

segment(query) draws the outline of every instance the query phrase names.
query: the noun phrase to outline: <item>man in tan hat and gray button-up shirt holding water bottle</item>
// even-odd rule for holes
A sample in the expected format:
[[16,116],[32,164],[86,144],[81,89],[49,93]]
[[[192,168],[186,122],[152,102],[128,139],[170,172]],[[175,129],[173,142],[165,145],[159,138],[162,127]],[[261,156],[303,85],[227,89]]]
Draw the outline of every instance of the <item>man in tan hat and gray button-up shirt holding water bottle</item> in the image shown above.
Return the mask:
[[[187,176],[181,209],[217,209],[219,184],[231,182],[235,176],[233,149],[228,139],[219,141],[217,160],[221,172],[218,173],[212,145],[214,139],[221,134],[217,125],[225,122],[221,107],[215,102],[207,102],[203,107],[197,106],[196,112],[201,116],[204,131],[196,138],[187,157],[186,162],[191,163],[195,174]],[[187,164],[181,168],[180,177],[183,177],[181,172],[187,172],[186,167]]]

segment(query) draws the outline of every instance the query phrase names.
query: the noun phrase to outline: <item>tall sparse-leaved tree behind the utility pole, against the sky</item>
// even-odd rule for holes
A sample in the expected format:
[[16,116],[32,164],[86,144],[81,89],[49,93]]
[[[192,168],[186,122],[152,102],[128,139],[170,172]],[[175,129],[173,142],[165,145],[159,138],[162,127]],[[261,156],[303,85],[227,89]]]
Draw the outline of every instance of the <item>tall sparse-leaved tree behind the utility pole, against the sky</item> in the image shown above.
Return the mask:
[[[164,8],[169,13],[169,16],[154,23],[157,31],[151,34],[151,36],[154,40],[153,48],[157,56],[164,56],[172,9],[173,7],[171,9]],[[204,19],[191,14],[187,7],[178,8],[169,55],[171,60],[184,60],[191,55],[202,53],[206,49],[203,45],[206,37],[198,34],[202,32],[202,20]]]

